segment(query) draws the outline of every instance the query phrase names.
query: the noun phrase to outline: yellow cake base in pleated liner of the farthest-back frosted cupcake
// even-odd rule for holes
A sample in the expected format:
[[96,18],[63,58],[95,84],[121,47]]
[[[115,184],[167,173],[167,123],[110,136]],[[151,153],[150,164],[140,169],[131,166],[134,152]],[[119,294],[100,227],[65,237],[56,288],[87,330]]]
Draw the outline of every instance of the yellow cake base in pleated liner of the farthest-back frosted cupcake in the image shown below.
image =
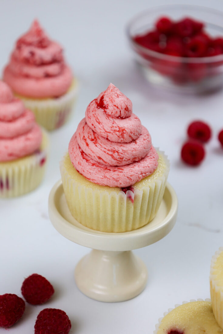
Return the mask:
[[21,95],[20,98],[27,109],[32,110],[36,122],[51,131],[60,128],[65,124],[77,99],[78,83],[75,79],[69,91],[59,98],[54,99],[31,99]]

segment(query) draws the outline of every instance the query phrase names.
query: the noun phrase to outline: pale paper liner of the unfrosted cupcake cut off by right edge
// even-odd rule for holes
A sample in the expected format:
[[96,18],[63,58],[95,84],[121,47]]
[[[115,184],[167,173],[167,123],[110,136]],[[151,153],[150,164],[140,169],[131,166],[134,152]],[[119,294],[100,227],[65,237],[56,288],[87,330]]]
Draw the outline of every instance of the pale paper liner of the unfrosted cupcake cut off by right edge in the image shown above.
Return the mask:
[[[215,319],[219,326],[223,329],[223,286],[217,279],[215,274],[215,264],[219,255],[223,252],[223,247],[220,247],[211,260],[210,271],[210,293]],[[223,269],[222,269],[223,272]]]

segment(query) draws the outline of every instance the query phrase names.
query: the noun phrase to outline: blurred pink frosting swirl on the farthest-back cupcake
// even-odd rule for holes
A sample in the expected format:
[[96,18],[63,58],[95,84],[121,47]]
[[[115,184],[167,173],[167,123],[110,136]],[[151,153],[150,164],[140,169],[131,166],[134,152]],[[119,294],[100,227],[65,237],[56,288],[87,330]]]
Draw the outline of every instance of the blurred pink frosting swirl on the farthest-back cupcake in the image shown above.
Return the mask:
[[50,98],[69,90],[72,72],[64,62],[62,47],[51,41],[35,20],[17,40],[3,78],[17,94]]

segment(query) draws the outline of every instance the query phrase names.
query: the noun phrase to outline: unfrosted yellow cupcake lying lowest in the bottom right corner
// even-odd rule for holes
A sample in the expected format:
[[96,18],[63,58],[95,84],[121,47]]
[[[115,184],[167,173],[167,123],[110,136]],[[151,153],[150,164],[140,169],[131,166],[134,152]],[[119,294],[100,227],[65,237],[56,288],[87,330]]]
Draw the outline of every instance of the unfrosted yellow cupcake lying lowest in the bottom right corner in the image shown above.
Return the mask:
[[164,313],[154,334],[220,334],[223,333],[215,320],[211,301],[184,302]]

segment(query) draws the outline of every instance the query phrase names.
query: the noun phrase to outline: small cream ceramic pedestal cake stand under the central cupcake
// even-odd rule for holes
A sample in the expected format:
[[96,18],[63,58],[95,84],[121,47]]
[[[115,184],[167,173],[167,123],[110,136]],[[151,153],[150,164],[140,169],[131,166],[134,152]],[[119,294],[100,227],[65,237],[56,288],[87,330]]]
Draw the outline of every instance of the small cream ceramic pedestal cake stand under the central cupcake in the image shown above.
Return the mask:
[[167,184],[160,208],[149,224],[130,232],[106,233],[89,229],[73,218],[61,181],[49,194],[49,218],[55,229],[67,239],[93,248],[76,266],[75,281],[85,295],[102,302],[125,301],[143,291],[147,268],[131,250],[167,235],[176,222],[177,207],[177,195]]

